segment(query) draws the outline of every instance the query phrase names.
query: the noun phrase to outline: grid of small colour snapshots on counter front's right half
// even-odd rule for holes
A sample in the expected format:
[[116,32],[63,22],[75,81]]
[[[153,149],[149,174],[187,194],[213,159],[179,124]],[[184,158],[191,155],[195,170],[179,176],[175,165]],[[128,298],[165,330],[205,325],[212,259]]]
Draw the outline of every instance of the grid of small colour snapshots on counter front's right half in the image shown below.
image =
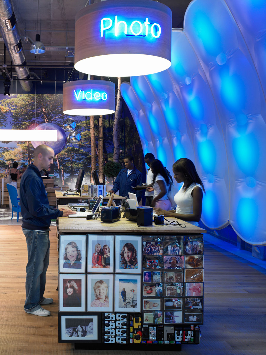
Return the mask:
[[143,323],[202,324],[203,235],[143,236],[142,252]]

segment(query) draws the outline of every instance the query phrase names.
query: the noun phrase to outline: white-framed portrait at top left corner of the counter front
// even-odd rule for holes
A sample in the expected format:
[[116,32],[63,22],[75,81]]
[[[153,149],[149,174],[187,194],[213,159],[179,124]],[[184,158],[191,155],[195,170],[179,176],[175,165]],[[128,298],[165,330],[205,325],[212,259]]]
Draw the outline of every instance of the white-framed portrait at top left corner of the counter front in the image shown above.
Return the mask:
[[85,273],[85,235],[64,235],[59,237],[59,272]]

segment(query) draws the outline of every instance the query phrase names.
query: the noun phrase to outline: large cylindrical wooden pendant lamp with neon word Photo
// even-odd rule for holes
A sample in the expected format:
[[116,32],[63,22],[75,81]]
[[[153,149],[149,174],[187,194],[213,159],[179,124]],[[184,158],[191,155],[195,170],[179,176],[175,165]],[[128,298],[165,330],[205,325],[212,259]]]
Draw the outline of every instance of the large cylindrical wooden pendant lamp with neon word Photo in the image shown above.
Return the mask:
[[172,11],[151,0],[109,0],[76,15],[76,70],[99,76],[138,76],[171,65]]

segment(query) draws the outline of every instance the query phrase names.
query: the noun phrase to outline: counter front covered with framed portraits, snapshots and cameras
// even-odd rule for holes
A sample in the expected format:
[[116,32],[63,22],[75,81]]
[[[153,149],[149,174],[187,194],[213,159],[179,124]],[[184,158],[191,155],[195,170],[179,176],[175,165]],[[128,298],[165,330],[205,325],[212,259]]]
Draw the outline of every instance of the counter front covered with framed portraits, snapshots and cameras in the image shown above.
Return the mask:
[[203,234],[60,234],[59,342],[169,351],[199,344],[203,252]]

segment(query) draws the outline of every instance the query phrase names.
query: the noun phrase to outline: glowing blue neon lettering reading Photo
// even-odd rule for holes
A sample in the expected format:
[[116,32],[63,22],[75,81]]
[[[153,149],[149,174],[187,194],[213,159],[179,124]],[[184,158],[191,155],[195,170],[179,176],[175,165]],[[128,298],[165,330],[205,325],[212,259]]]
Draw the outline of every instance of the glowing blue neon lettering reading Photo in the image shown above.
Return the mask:
[[102,18],[101,25],[100,25],[101,37],[104,36],[104,31],[107,31],[109,29],[110,29],[109,32],[114,32],[116,37],[123,33],[126,36],[151,35],[154,38],[159,38],[162,31],[159,23],[151,24],[149,22],[148,17],[146,17],[145,21],[143,22],[134,20],[131,23],[127,23],[126,21],[123,20],[118,21],[117,16],[115,16],[115,21],[113,21],[110,17]]

